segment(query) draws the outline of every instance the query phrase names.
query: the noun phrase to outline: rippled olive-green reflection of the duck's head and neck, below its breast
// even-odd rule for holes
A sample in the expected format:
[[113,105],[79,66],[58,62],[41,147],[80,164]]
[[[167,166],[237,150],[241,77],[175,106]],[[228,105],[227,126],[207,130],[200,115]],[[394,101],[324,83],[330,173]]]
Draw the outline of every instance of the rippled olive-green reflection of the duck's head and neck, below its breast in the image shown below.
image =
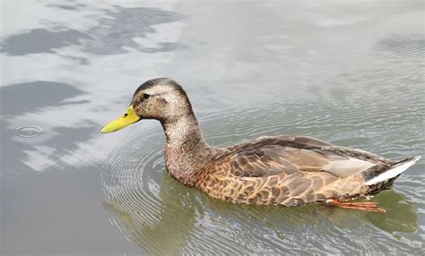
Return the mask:
[[104,208],[112,211],[126,228],[131,240],[148,254],[174,255],[184,251],[195,229],[196,216],[202,213],[197,192],[187,191],[172,179],[165,178],[164,183],[159,198],[140,187],[116,187],[103,202]]

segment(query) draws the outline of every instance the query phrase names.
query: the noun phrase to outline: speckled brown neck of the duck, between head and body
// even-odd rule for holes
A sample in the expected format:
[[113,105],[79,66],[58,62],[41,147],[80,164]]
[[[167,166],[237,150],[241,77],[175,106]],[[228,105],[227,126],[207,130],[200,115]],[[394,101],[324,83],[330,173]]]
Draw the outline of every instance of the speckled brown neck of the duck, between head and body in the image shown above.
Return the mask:
[[196,174],[202,170],[214,149],[204,141],[193,113],[163,121],[161,124],[167,138],[167,171],[179,182],[195,185]]

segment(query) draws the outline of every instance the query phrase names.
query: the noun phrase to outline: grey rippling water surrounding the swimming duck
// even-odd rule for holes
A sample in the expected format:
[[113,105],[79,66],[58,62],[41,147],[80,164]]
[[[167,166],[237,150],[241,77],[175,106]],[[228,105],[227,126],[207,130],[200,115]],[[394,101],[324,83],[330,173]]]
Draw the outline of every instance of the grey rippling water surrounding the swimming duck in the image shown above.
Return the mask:
[[100,134],[167,76],[212,145],[424,155],[421,1],[229,2],[2,1],[2,254],[424,253],[423,158],[373,198],[385,214],[285,209],[174,181],[157,122]]

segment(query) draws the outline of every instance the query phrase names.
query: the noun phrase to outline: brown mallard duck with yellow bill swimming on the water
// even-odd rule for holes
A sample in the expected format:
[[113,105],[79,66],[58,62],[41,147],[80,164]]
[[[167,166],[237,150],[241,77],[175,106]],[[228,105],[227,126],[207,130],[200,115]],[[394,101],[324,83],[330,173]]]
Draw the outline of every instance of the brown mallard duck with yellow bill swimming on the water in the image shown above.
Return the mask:
[[327,202],[385,211],[375,202],[348,201],[388,188],[421,158],[395,162],[305,136],[261,137],[213,148],[204,141],[185,90],[168,78],[145,81],[126,113],[101,132],[115,132],[143,119],[156,119],[164,129],[169,175],[212,198],[234,203],[289,207]]

